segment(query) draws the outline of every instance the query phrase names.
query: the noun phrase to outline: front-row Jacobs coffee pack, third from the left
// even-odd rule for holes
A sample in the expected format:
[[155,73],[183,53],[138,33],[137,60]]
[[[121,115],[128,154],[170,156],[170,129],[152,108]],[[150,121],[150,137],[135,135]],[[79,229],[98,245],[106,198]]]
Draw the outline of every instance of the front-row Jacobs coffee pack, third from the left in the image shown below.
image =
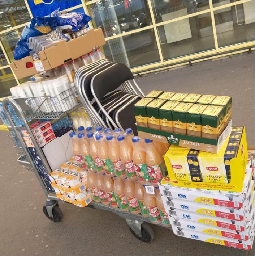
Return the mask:
[[[163,93],[164,94],[164,93]],[[162,94],[162,95],[163,95]],[[159,123],[161,131],[173,132],[172,110],[179,104],[178,101],[167,101],[159,109]]]

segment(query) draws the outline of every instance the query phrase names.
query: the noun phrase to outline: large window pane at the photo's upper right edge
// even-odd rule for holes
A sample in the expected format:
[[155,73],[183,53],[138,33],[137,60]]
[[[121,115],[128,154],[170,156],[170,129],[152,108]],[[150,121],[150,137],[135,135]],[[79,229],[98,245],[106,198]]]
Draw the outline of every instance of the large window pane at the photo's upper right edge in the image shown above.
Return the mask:
[[214,11],[219,47],[254,40],[254,1]]

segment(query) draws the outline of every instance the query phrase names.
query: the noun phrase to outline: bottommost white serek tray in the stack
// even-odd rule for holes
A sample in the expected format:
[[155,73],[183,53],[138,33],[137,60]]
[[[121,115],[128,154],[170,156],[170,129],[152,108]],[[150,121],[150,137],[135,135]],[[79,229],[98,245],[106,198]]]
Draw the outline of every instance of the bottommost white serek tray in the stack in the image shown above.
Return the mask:
[[175,226],[173,226],[173,232],[178,236],[200,240],[200,241],[213,243],[213,244],[220,244],[228,247],[234,247],[238,249],[244,249],[244,250],[250,250],[252,248],[253,240],[254,240],[254,235],[247,241],[242,241],[242,240],[239,241],[237,239],[232,239],[232,238],[219,239],[219,236],[213,236],[209,234],[204,234],[202,232],[181,229]]

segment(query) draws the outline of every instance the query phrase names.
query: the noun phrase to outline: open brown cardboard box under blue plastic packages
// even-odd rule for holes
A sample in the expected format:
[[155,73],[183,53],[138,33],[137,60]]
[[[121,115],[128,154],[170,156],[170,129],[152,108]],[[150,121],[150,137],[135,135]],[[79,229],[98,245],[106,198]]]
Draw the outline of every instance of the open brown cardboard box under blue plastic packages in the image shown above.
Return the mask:
[[[37,54],[38,60],[27,56],[10,63],[10,67],[17,78],[21,79],[60,66],[69,60],[91,52],[94,47],[104,44],[102,29],[89,30],[86,35],[81,35],[68,42],[59,41],[55,46],[40,51]],[[32,64],[30,68],[27,68],[27,63]]]

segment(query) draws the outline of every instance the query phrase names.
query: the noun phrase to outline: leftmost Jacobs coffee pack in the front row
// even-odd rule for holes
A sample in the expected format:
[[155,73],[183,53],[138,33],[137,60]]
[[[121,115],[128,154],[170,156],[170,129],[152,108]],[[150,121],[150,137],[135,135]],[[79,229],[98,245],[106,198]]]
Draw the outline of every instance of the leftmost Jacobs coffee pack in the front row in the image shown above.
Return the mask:
[[134,105],[135,121],[138,126],[148,127],[146,105],[149,104],[152,98],[142,98]]

